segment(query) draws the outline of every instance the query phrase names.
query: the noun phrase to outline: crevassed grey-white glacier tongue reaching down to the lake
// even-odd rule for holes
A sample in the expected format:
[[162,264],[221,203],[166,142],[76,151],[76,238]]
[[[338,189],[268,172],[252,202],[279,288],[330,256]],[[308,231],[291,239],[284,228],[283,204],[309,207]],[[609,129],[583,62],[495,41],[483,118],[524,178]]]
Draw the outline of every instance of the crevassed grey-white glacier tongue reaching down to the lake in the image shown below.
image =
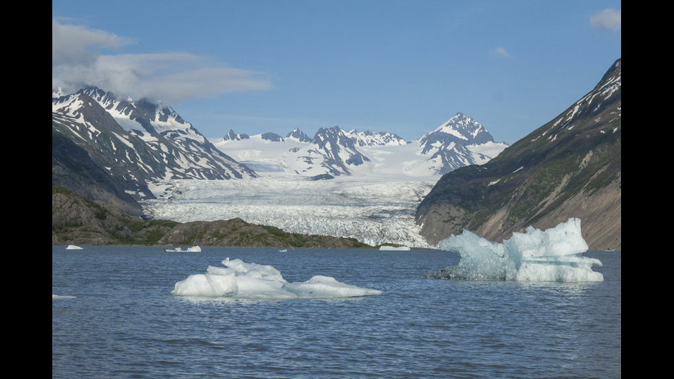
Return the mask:
[[240,217],[286,232],[352,237],[370,245],[430,247],[414,223],[414,214],[438,178],[396,181],[344,175],[312,181],[279,174],[250,180],[174,180],[153,183],[157,199],[143,206],[155,219]]

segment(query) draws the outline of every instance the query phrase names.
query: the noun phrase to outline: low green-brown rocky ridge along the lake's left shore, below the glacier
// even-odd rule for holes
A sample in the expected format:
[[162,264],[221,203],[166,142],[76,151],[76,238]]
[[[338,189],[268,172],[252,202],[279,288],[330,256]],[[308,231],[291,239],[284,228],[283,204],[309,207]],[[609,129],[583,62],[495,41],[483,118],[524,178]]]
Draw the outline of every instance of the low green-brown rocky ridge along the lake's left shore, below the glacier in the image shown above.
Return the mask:
[[300,235],[242,219],[144,221],[109,204],[52,186],[52,245],[372,248],[352,238]]

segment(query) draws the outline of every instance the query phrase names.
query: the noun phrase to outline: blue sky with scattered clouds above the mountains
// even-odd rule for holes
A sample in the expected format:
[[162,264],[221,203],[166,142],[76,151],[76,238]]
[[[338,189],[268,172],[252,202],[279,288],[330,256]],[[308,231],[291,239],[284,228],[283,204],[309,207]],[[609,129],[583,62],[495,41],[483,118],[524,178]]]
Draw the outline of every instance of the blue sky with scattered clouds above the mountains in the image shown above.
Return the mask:
[[95,85],[230,129],[387,131],[457,112],[513,144],[621,58],[615,0],[52,0],[52,89]]

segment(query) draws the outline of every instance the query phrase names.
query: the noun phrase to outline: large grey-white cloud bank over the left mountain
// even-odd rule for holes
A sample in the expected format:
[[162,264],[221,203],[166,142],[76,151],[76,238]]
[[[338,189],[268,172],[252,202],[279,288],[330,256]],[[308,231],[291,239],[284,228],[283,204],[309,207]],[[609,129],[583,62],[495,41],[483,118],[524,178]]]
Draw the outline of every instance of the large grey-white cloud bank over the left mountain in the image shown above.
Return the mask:
[[101,53],[133,43],[135,39],[52,19],[52,89],[70,93],[92,85],[118,96],[176,104],[192,98],[272,88],[263,73],[228,67],[195,54]]

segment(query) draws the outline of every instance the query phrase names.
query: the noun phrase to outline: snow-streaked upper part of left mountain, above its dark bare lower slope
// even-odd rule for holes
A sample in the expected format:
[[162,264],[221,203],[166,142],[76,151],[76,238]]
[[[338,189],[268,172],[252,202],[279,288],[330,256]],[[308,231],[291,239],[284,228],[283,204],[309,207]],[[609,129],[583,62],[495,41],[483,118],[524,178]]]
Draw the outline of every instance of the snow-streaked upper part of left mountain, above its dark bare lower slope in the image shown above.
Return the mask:
[[94,87],[62,95],[52,91],[52,133],[83,147],[127,191],[140,191],[139,197],[151,196],[150,180],[257,177],[170,107],[118,99]]

